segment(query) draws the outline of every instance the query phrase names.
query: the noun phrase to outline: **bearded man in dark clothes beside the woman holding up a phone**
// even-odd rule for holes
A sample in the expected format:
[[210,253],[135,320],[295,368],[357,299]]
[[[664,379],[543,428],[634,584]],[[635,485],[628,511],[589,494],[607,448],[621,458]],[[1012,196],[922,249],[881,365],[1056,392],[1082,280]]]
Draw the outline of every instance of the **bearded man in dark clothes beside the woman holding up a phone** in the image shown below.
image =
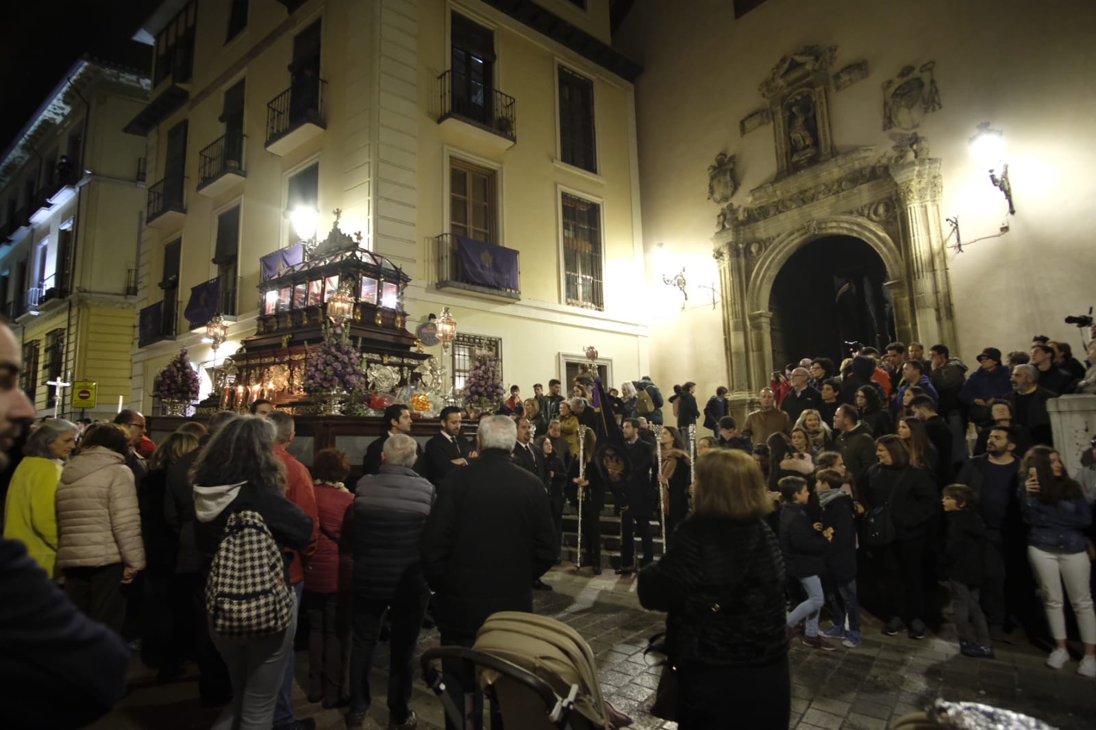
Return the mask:
[[[990,626],[990,637],[994,641],[1008,640],[1005,624],[1009,608],[1024,615],[1027,608],[1016,605],[1015,600],[1006,601],[1005,582],[1009,597],[1021,595],[1016,583],[1023,583],[1027,561],[1024,557],[1024,527],[1019,520],[1017,500],[1017,474],[1019,459],[1015,455],[1016,440],[1006,425],[990,427],[985,442],[985,454],[972,456],[959,470],[957,481],[967,484],[978,494],[978,511],[985,523],[986,546],[982,574],[981,604],[985,621]],[[1006,535],[1008,535],[1006,539]],[[1006,545],[1007,543],[1007,545]],[[1023,598],[1020,598],[1023,601]],[[1030,603],[1030,602],[1028,602]]]

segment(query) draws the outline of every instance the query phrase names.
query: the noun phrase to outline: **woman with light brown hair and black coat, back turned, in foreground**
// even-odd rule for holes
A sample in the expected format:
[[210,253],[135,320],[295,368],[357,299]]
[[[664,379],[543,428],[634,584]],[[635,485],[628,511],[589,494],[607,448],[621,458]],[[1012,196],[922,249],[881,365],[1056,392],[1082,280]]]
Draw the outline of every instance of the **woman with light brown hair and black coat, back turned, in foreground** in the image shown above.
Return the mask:
[[667,613],[677,727],[784,730],[791,712],[784,561],[764,521],[773,503],[761,470],[744,452],[712,449],[697,461],[695,499],[638,586],[644,608]]

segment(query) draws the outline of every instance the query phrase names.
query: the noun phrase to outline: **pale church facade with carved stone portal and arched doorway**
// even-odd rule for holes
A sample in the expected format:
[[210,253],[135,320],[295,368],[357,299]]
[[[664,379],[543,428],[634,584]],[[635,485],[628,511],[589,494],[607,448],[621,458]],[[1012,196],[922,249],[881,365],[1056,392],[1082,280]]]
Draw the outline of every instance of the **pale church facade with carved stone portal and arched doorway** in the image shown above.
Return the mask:
[[644,67],[655,379],[727,385],[741,412],[842,342],[1078,347],[1096,8],[744,4],[636,3],[614,36]]

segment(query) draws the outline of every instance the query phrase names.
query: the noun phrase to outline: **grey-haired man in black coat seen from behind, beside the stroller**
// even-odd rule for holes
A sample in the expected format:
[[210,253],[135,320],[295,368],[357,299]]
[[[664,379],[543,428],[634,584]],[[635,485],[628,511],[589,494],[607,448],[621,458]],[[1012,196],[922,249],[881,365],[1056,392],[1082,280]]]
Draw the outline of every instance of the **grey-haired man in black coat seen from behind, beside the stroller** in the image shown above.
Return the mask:
[[[514,464],[517,426],[504,415],[480,421],[479,458],[453,471],[419,543],[423,572],[435,591],[442,646],[470,647],[499,611],[533,611],[532,582],[556,562],[556,527],[544,483]],[[475,677],[464,662],[443,662],[457,707]],[[477,705],[481,705],[479,692]],[[452,721],[446,718],[446,727]]]

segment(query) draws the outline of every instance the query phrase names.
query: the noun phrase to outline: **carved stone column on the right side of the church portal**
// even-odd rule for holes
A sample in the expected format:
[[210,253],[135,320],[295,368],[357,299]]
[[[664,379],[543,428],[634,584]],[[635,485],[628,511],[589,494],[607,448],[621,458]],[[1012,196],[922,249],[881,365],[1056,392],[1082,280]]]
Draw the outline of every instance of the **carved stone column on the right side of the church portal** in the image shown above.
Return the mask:
[[945,342],[955,350],[958,343],[940,227],[939,168],[939,160],[914,160],[891,166],[890,173],[902,201],[911,334],[922,342]]

